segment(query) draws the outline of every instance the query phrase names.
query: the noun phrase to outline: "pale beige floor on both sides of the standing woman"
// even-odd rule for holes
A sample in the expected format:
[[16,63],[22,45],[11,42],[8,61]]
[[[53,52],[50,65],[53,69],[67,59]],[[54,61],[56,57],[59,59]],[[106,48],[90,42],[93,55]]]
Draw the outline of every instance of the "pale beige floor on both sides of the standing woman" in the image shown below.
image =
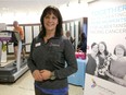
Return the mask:
[[[33,84],[34,80],[27,71],[15,83],[0,84],[0,95],[35,95]],[[84,95],[83,87],[70,85],[70,95]]]

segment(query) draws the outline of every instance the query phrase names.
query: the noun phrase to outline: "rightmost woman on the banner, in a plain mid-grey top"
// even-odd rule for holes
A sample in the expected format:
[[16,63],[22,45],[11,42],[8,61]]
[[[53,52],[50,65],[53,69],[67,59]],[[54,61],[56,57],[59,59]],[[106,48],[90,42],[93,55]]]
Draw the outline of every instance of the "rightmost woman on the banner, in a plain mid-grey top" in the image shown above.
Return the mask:
[[116,45],[114,55],[116,58],[111,60],[110,70],[105,73],[111,82],[126,86],[126,49],[124,45]]

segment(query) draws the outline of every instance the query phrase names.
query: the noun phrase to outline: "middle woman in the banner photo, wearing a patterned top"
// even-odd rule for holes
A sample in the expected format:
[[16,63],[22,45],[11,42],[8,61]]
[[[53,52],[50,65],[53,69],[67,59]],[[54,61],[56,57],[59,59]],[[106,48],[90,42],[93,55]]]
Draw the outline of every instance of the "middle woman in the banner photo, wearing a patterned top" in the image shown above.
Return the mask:
[[108,80],[105,71],[109,69],[111,61],[111,54],[108,51],[106,44],[104,41],[99,43],[99,70],[98,76],[104,80]]

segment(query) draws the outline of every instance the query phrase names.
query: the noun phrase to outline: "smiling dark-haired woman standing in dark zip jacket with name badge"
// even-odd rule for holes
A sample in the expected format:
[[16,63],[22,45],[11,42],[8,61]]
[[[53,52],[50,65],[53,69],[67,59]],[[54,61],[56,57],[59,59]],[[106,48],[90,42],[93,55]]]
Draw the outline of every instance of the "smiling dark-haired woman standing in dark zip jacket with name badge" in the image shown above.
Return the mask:
[[49,5],[40,22],[41,32],[34,38],[28,58],[35,94],[68,95],[67,76],[77,71],[77,61],[72,43],[62,37],[61,13]]

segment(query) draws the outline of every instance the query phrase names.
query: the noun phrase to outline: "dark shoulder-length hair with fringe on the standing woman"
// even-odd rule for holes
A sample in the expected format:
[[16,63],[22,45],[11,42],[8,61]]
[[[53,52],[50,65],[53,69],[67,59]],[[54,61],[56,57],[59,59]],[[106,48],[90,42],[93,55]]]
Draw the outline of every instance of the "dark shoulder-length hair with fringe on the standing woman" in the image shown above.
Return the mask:
[[42,12],[42,14],[40,16],[40,23],[41,23],[41,32],[40,32],[40,34],[41,34],[42,37],[46,36],[46,27],[45,27],[45,24],[43,24],[43,17],[47,14],[51,14],[51,13],[53,13],[58,17],[59,23],[56,25],[55,36],[60,37],[60,36],[62,36],[62,23],[63,23],[62,15],[61,15],[59,9],[53,7],[53,5],[48,5],[43,10],[43,12]]

